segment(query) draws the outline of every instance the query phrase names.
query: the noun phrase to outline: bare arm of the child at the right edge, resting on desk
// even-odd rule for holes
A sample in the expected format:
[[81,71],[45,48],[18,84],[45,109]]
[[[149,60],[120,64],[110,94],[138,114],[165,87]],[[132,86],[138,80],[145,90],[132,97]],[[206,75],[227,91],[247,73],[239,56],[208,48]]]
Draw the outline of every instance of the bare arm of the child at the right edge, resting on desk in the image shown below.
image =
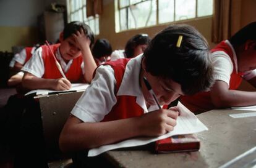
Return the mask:
[[229,90],[224,81],[216,81],[211,88],[211,101],[218,108],[256,105],[256,92]]

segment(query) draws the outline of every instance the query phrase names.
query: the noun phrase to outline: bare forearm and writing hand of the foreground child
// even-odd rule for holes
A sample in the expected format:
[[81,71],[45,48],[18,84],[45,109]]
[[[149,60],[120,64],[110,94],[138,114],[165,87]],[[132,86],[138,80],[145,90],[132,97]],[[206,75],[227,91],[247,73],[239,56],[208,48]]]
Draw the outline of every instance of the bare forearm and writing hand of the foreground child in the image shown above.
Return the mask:
[[177,115],[176,111],[161,109],[137,118],[107,122],[82,122],[70,116],[62,129],[59,145],[62,151],[74,151],[131,137],[163,135],[176,126]]

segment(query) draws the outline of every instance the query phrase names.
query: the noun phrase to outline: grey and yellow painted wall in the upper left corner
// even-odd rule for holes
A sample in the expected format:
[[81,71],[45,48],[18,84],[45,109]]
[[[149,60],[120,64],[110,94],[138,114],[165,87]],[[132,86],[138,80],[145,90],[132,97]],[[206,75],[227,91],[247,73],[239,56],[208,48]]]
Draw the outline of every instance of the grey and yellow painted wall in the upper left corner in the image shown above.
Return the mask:
[[0,51],[12,46],[30,46],[38,39],[37,16],[44,10],[42,0],[0,1]]

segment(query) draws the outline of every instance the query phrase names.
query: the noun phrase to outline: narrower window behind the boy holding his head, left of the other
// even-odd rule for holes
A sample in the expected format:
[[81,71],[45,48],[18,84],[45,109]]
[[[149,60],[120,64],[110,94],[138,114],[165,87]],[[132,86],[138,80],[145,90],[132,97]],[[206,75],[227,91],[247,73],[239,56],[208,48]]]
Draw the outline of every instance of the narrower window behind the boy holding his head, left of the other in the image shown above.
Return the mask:
[[67,14],[69,22],[84,22],[90,26],[93,33],[100,34],[99,16],[86,16],[86,0],[67,0]]

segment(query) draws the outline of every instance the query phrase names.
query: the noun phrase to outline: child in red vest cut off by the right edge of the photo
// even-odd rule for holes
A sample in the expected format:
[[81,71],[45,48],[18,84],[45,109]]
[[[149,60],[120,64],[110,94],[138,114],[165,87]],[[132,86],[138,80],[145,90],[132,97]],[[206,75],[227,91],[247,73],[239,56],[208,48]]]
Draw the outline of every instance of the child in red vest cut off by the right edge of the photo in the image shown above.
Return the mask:
[[236,90],[242,79],[256,87],[256,22],[211,50],[215,84],[210,92],[181,97],[194,113],[215,108],[256,105],[256,92]]

